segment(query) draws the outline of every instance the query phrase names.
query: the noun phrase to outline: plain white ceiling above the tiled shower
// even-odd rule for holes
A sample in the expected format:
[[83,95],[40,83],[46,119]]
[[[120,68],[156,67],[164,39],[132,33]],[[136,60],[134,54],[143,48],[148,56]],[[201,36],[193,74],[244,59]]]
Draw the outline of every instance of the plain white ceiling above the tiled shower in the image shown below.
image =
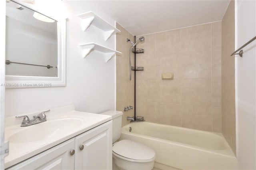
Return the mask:
[[134,36],[222,20],[230,0],[95,0]]

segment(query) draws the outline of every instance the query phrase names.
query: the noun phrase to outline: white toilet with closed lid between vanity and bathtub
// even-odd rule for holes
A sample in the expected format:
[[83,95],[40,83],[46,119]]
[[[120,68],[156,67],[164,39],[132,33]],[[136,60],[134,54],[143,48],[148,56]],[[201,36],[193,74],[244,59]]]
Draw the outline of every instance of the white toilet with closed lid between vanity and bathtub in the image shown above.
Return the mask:
[[122,115],[121,111],[107,111],[100,113],[102,115],[112,116],[113,121],[113,162],[120,170],[152,170],[156,153],[154,150],[144,144],[132,140],[118,140],[121,136]]

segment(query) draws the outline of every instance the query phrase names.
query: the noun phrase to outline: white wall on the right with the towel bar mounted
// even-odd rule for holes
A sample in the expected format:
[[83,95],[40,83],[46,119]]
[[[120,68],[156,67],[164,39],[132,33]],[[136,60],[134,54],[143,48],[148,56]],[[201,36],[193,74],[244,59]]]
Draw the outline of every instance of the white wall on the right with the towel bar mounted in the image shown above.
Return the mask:
[[[236,49],[256,36],[256,1],[236,1]],[[237,158],[239,169],[256,169],[256,40],[236,55]]]

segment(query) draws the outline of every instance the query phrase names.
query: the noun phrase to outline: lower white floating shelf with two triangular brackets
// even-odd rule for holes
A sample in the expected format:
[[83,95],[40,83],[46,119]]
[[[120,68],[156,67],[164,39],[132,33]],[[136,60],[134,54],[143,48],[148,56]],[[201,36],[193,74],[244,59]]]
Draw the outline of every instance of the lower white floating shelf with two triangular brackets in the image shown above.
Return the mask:
[[121,52],[119,51],[104,47],[93,42],[80,44],[80,46],[83,48],[83,58],[85,58],[92,51],[92,49],[104,53],[106,57],[106,62],[108,62],[116,53],[121,54]]

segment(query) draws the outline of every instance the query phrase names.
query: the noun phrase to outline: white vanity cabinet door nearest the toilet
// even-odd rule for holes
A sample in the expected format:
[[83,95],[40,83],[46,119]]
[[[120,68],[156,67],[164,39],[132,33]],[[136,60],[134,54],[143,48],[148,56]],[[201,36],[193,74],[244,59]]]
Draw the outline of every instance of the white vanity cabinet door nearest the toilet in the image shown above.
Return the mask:
[[77,136],[75,151],[76,170],[112,170],[112,121]]

